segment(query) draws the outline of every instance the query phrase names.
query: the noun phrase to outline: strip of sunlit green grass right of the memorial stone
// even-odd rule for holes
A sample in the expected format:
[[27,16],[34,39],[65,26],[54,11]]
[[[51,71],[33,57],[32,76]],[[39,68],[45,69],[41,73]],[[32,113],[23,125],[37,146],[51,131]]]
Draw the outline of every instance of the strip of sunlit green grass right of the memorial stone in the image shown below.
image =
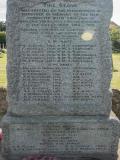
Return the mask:
[[111,87],[115,89],[120,89],[120,53],[113,54],[113,78],[111,82]]

